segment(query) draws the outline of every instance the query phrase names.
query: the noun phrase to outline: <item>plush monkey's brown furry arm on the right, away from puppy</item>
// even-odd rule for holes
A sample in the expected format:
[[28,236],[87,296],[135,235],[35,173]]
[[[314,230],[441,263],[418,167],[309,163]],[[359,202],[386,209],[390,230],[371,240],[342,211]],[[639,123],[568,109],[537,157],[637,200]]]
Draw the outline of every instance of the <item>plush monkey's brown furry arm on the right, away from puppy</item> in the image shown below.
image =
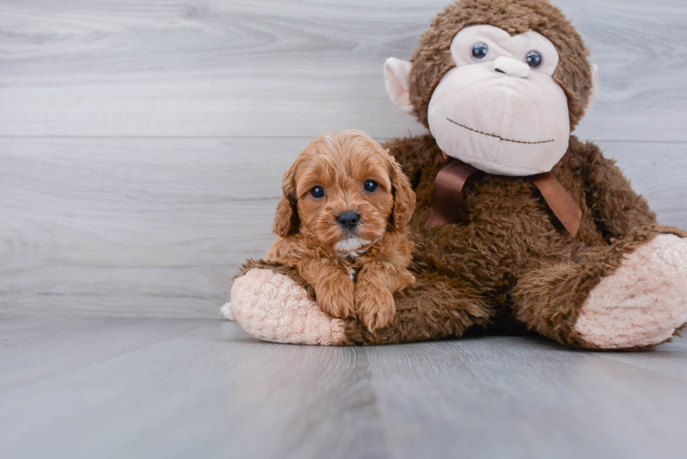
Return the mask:
[[655,224],[656,214],[646,199],[632,190],[615,161],[604,158],[598,146],[571,137],[571,149],[584,158],[582,174],[587,206],[606,239],[620,238],[632,228]]

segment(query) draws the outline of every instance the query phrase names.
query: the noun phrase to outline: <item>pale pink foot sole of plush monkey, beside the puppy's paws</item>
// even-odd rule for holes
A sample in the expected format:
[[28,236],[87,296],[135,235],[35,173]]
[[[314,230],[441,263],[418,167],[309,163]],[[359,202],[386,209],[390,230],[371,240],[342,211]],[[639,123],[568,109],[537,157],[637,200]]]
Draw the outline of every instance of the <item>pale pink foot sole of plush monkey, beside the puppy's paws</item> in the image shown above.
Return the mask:
[[273,343],[344,343],[344,322],[322,312],[292,279],[253,268],[231,287],[231,309],[252,336]]

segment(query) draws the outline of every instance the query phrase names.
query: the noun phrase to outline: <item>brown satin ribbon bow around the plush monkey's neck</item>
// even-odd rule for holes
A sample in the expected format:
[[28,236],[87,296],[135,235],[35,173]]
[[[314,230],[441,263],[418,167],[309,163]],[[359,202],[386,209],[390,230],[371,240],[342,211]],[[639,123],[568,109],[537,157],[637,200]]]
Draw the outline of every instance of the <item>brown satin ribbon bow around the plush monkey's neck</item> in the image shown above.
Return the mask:
[[[475,167],[465,164],[463,161],[449,158],[449,163],[439,171],[435,179],[432,209],[425,228],[458,221],[458,206],[456,205],[458,196],[463,190],[465,181],[475,172],[479,172]],[[582,210],[570,196],[570,193],[564,189],[551,172],[529,175],[526,178],[536,185],[556,218],[574,238],[580,228]]]

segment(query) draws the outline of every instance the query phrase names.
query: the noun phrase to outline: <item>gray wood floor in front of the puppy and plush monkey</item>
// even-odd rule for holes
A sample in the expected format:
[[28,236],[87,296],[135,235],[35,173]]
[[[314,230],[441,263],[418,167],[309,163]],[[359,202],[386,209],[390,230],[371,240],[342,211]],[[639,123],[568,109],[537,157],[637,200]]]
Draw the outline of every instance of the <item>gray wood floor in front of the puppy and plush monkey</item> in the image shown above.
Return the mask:
[[679,458],[686,364],[684,338],[320,348],[219,320],[4,317],[0,444],[26,459]]

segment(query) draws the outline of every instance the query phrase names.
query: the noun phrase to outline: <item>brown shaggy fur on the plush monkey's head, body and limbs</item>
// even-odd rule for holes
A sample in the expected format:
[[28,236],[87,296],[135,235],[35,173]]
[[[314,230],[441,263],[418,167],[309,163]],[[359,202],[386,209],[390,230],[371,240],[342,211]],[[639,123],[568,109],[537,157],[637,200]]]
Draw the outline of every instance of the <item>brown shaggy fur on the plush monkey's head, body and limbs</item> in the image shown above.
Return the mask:
[[[549,39],[560,62],[554,78],[568,97],[570,123],[590,97],[587,50],[560,11],[544,0],[463,0],[448,6],[423,34],[411,62],[410,97],[424,125],[433,90],[454,67],[449,46],[470,25],[494,25],[512,35],[529,30]],[[598,349],[573,329],[590,291],[615,273],[625,254],[656,235],[687,237],[659,226],[613,160],[571,137],[552,173],[582,210],[576,238],[524,177],[477,172],[456,202],[457,224],[424,230],[437,173],[446,164],[431,135],[393,139],[386,148],[416,192],[409,222],[414,285],[395,294],[392,324],[370,332],[346,320],[346,344],[404,343],[461,336],[470,327],[529,329],[576,348]],[[294,273],[292,273],[292,276]],[[651,346],[649,346],[651,347]]]

